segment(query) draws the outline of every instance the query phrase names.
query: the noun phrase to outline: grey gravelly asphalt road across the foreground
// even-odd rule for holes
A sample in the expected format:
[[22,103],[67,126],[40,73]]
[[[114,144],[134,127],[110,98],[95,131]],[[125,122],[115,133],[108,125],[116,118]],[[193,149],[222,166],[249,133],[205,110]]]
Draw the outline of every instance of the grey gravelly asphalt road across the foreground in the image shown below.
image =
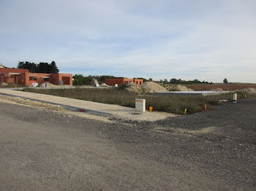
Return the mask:
[[0,102],[0,190],[256,190],[255,106],[105,123]]

